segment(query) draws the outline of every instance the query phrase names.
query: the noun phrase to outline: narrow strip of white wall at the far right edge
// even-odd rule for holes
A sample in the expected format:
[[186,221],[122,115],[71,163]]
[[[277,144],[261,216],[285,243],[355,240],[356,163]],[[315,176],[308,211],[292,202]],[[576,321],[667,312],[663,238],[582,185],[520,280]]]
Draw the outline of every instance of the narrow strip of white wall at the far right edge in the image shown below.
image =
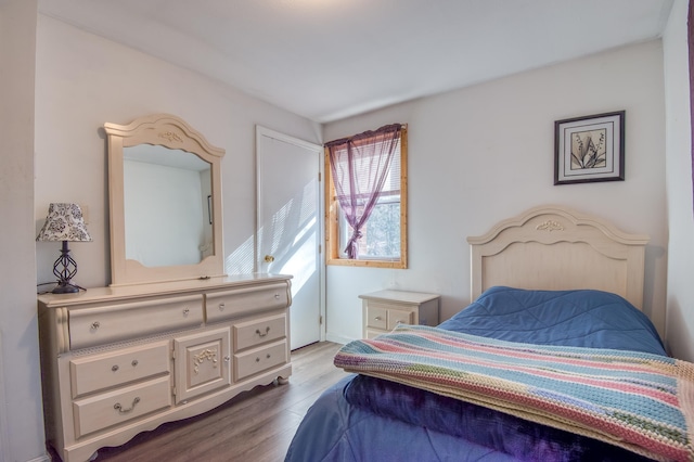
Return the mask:
[[670,226],[667,343],[672,354],[694,361],[694,208],[686,0],[676,0],[663,37],[665,62],[666,177]]

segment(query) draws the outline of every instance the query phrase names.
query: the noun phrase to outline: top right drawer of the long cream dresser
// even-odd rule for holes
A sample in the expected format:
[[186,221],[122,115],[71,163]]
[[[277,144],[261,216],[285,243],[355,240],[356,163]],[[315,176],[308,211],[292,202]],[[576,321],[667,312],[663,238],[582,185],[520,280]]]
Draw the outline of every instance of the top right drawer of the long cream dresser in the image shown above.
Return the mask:
[[286,283],[246,287],[205,295],[208,322],[223,321],[250,311],[286,308],[290,291]]

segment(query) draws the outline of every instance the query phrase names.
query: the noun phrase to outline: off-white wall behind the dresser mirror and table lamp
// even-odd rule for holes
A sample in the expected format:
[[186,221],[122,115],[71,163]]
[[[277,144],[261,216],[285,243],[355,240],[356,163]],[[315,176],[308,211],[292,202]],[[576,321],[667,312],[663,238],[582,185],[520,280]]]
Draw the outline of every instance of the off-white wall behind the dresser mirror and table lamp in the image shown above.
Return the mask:
[[[91,243],[74,243],[75,282],[110,283],[106,121],[152,113],[185,119],[227,151],[222,159],[227,271],[253,270],[255,125],[322,143],[319,124],[194,72],[39,15],[36,85],[36,227],[50,202],[86,206]],[[37,243],[39,282],[54,280],[57,243]]]

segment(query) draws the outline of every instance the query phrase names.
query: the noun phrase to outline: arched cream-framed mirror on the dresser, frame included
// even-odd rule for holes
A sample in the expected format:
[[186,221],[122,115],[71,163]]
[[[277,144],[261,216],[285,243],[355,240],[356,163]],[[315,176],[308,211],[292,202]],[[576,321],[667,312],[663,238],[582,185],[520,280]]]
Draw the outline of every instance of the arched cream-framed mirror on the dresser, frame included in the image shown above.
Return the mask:
[[224,151],[168,114],[108,136],[111,285],[223,275]]

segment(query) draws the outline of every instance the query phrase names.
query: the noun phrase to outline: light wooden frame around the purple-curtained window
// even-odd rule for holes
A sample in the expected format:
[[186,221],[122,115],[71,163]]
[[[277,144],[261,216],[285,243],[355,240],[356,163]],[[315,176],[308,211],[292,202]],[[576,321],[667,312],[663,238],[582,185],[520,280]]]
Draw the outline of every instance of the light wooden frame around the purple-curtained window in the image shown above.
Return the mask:
[[339,249],[339,203],[336,198],[330,166],[330,151],[325,155],[325,264],[369,268],[408,268],[408,127],[400,128],[400,258],[399,259],[350,259],[340,257]]

